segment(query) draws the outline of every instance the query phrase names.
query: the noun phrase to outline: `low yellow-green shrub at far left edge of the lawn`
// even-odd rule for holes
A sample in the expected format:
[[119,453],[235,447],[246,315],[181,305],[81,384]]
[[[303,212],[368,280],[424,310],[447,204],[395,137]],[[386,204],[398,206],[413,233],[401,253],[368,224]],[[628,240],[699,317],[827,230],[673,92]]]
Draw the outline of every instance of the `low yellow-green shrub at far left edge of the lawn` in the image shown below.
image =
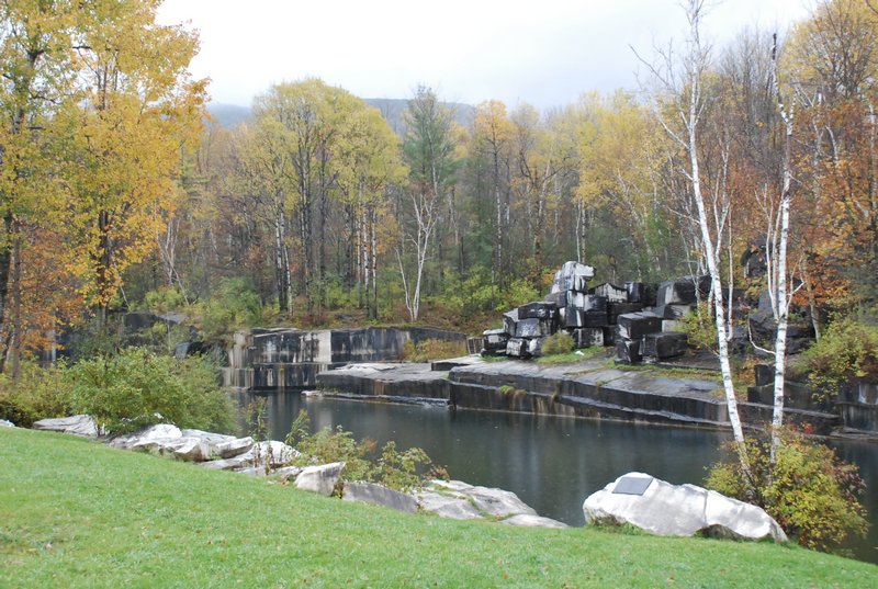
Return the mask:
[[71,399],[63,373],[63,366],[42,369],[25,361],[18,378],[0,374],[0,419],[30,428],[34,421],[69,415]]

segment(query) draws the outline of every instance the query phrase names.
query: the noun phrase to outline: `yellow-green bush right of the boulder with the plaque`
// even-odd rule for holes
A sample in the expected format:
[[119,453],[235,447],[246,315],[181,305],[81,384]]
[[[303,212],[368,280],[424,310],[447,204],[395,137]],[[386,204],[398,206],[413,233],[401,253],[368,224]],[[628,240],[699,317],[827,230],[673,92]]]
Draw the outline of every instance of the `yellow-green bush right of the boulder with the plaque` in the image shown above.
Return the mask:
[[830,448],[786,432],[772,469],[769,442],[748,440],[751,482],[730,450],[734,458],[714,464],[707,486],[758,505],[802,546],[830,552],[851,534],[866,534],[866,509],[859,502],[865,485],[857,467]]

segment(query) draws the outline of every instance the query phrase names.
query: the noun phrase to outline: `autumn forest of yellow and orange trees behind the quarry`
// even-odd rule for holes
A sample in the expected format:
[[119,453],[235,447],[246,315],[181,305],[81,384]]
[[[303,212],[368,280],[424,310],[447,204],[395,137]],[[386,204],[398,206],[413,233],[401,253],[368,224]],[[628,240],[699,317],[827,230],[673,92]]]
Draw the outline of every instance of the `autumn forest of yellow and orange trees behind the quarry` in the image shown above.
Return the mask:
[[544,294],[569,259],[610,282],[712,261],[741,283],[735,262],[779,235],[784,194],[783,274],[818,328],[875,307],[868,3],[820,1],[776,43],[750,30],[646,48],[640,92],[548,112],[491,100],[459,124],[419,87],[398,133],[318,79],[267,89],[244,125],[204,125],[196,35],[156,24],[159,4],[0,3],[4,362],[149,292],[191,305],[232,281],[270,321],[459,326]]

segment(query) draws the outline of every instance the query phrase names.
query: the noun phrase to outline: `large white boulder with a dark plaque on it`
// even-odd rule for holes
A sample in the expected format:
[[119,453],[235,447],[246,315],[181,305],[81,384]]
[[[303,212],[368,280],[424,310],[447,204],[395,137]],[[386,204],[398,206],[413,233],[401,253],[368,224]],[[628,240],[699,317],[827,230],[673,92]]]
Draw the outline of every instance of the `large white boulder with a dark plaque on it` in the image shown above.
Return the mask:
[[787,535],[762,508],[696,485],[672,485],[628,473],[583,503],[585,522],[630,523],[658,535],[708,535],[786,542]]

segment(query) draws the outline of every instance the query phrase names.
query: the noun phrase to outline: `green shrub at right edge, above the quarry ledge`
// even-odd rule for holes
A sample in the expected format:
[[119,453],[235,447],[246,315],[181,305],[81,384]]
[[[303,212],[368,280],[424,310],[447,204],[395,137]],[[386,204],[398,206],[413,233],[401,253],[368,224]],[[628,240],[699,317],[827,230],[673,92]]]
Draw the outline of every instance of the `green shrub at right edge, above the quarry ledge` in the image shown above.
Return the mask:
[[847,382],[878,382],[878,327],[843,319],[830,326],[800,361],[824,397]]

